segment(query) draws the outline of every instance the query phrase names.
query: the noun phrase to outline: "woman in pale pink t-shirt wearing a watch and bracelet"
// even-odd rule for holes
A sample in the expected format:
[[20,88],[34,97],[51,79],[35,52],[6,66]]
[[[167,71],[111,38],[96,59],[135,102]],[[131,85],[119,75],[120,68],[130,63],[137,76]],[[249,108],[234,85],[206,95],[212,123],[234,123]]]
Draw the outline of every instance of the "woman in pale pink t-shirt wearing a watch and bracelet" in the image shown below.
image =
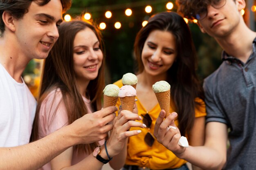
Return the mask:
[[[58,31],[59,38],[44,63],[32,140],[43,138],[85,114],[97,114],[95,111],[101,109],[104,57],[100,32],[91,23],[80,19],[63,22]],[[103,124],[105,119],[107,116],[97,123]],[[110,166],[120,169],[126,158],[127,137],[141,132],[127,130],[132,126],[143,128],[142,123],[129,121],[135,119],[141,118],[122,111],[114,125],[104,124],[105,127],[114,126],[108,141],[103,136],[102,141],[67,148],[42,169],[99,170],[113,156]]]

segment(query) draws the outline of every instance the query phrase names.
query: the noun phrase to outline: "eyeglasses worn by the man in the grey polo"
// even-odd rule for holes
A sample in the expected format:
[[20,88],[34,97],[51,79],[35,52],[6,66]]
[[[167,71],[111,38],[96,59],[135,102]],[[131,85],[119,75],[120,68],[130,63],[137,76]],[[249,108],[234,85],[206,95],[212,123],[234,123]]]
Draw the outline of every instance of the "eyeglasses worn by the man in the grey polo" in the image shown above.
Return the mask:
[[[224,7],[224,5],[226,4],[227,0],[212,0],[211,1],[211,6],[215,9],[220,9],[222,7]],[[197,20],[203,20],[206,16],[207,16],[207,7],[202,8],[200,11],[197,11],[197,13],[192,14],[192,16],[197,19]]]

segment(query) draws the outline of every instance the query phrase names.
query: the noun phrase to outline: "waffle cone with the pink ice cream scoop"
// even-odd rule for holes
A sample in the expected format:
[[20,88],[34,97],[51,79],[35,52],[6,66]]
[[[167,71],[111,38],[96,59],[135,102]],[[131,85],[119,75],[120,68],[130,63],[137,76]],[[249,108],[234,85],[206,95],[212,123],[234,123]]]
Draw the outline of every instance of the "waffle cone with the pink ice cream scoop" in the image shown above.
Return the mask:
[[124,85],[119,89],[118,96],[121,101],[122,109],[129,110],[132,112],[136,96],[135,88],[131,85]]

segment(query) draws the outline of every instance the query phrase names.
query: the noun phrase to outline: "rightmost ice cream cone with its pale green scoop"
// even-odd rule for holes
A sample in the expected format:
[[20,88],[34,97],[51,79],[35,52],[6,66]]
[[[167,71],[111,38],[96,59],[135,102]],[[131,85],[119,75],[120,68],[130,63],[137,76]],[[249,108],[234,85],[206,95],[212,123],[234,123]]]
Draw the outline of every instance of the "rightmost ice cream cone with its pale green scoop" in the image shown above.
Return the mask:
[[161,109],[166,112],[165,118],[170,114],[170,88],[171,85],[166,81],[158,81],[152,86]]

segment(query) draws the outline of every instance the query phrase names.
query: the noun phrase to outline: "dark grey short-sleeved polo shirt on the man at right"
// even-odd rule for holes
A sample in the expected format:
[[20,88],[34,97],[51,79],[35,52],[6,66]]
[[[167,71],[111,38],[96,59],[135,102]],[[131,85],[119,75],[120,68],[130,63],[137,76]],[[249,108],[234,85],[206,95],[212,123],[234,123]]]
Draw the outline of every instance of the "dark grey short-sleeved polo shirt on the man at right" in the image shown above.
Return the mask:
[[256,39],[246,63],[222,53],[220,67],[204,80],[206,122],[230,128],[225,170],[256,169]]

